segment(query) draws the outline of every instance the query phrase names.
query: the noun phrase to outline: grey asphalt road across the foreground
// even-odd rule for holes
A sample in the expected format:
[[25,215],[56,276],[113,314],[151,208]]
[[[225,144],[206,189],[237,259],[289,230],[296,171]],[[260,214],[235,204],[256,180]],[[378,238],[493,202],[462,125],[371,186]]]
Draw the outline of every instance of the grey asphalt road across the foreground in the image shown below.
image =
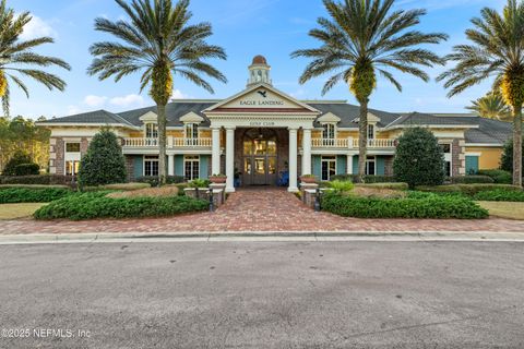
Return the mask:
[[524,348],[523,252],[517,242],[2,245],[0,348]]

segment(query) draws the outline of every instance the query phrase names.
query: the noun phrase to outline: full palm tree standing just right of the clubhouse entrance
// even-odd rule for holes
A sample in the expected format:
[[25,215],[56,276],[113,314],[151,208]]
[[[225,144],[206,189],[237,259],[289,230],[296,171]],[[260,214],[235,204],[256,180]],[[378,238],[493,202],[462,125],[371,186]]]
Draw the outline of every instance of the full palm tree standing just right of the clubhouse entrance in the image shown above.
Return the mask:
[[291,53],[294,58],[312,59],[300,76],[300,84],[325,73],[334,73],[325,83],[322,95],[337,83],[344,82],[349,85],[349,91],[360,104],[360,178],[366,173],[368,104],[377,85],[377,75],[384,77],[402,92],[402,86],[391,69],[428,82],[429,76],[420,65],[430,68],[433,64],[444,64],[443,59],[417,46],[439,44],[448,39],[448,36],[412,29],[426,11],[393,11],[393,3],[394,0],[324,0],[331,19],[318,19],[320,28],[309,32],[322,46]]

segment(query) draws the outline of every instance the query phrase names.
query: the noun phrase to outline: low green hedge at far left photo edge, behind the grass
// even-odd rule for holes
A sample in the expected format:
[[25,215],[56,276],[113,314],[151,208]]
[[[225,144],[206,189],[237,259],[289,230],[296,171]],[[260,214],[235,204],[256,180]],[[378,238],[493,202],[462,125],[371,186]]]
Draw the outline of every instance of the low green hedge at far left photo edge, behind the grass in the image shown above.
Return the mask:
[[49,203],[71,194],[64,188],[0,188],[0,204]]

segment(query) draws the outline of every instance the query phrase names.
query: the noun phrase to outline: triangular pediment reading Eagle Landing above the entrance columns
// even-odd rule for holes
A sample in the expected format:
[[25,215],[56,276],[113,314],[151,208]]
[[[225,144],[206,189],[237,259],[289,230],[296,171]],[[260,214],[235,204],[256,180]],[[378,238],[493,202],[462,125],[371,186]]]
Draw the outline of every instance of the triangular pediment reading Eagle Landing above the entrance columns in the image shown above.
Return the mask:
[[289,111],[320,113],[317,109],[300,103],[273,86],[259,84],[241,92],[219,104],[216,104],[204,112],[221,111]]

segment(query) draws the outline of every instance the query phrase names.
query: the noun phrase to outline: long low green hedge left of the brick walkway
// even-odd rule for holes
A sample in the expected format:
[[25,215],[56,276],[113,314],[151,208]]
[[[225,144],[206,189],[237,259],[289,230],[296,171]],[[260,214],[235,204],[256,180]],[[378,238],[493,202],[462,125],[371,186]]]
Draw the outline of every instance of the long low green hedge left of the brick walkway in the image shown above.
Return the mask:
[[187,196],[110,198],[107,192],[67,196],[35,212],[40,220],[162,217],[209,209],[204,200]]

